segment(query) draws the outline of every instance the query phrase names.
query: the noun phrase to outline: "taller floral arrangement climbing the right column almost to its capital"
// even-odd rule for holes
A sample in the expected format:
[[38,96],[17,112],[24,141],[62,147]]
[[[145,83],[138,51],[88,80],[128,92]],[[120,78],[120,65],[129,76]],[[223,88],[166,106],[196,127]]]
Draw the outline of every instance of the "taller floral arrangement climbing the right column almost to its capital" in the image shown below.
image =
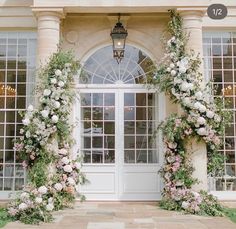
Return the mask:
[[183,114],[171,115],[159,126],[165,143],[165,164],[161,170],[165,187],[161,206],[193,214],[222,215],[223,208],[213,196],[192,190],[198,181],[192,177],[194,168],[186,143],[192,138],[206,143],[208,172],[215,174],[219,167],[214,164],[214,157],[222,158],[218,149],[228,114],[214,101],[210,85],[203,82],[199,56],[186,51],[188,36],[175,11],[171,11],[168,32],[171,38],[166,43],[166,54],[151,83],[178,103]]

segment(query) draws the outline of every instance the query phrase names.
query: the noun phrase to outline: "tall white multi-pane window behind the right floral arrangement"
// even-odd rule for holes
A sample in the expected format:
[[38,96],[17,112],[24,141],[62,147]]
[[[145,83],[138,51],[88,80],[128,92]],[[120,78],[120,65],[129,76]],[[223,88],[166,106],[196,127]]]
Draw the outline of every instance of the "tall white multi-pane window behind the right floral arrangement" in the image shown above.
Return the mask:
[[205,32],[203,35],[205,76],[212,80],[214,96],[224,96],[225,109],[232,119],[224,134],[220,150],[226,156],[224,174],[211,180],[210,189],[236,190],[236,33]]

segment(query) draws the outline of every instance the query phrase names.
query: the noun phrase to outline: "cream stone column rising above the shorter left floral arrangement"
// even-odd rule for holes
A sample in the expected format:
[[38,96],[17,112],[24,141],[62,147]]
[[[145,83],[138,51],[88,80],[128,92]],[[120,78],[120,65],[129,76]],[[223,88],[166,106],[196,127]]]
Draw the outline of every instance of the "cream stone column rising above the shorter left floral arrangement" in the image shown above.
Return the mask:
[[50,55],[56,52],[60,42],[60,19],[63,9],[43,11],[33,9],[38,21],[37,66],[44,65]]

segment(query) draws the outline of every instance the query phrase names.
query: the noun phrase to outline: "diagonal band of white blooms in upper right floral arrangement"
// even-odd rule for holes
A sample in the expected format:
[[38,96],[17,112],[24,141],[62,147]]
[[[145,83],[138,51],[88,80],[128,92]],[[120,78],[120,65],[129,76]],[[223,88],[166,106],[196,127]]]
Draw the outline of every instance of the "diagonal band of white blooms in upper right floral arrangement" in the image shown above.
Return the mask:
[[196,133],[204,137],[207,142],[219,144],[220,141],[214,132],[211,120],[214,120],[215,126],[217,126],[220,124],[221,118],[216,114],[209,89],[202,86],[202,79],[191,66],[192,59],[188,56],[179,59],[179,53],[173,52],[173,45],[176,46],[179,42],[176,37],[172,37],[167,42],[171,63],[167,66],[166,72],[173,77],[171,93],[183,107],[190,111],[188,119],[194,123]]

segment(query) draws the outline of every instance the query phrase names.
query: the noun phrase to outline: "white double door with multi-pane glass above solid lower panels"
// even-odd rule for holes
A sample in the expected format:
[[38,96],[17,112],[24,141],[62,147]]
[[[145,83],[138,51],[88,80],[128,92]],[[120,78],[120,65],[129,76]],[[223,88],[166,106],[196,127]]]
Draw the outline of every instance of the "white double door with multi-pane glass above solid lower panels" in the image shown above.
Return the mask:
[[89,180],[81,192],[87,200],[160,199],[156,94],[82,89],[79,103],[77,140]]

